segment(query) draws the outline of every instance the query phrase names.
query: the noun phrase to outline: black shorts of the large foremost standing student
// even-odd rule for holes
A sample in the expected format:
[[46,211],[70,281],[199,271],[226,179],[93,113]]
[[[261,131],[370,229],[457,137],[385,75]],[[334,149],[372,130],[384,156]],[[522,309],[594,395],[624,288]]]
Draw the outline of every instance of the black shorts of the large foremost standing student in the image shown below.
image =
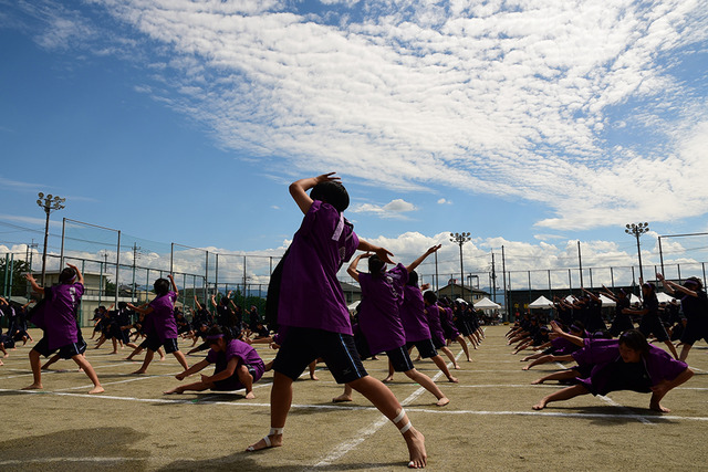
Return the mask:
[[327,365],[337,384],[348,384],[368,375],[354,346],[354,336],[301,327],[288,328],[273,370],[296,380],[308,365],[319,357]]

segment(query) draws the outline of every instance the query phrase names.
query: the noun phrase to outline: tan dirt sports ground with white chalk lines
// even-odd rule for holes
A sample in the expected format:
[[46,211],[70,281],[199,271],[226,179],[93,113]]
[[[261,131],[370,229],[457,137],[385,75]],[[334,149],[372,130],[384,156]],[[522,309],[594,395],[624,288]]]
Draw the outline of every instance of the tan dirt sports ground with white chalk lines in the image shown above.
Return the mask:
[[[490,326],[472,361],[460,356],[459,384],[449,384],[430,361],[418,370],[435,377],[450,398],[435,397],[398,374],[392,390],[425,436],[428,470],[583,471],[708,469],[708,349],[698,344],[688,358],[696,375],[663,401],[670,413],[648,410],[649,396],[614,392],[584,396],[531,409],[558,385],[531,380],[558,365],[522,371],[521,355],[511,355],[506,326]],[[35,340],[41,334],[33,332]],[[91,336],[85,331],[85,336]],[[190,342],[180,342],[184,352]],[[87,358],[106,391],[86,395],[87,377],[71,360],[43,376],[44,390],[22,391],[32,382],[31,344],[9,350],[0,366],[0,469],[27,471],[362,471],[403,470],[405,443],[396,429],[361,396],[332,403],[337,386],[323,365],[319,381],[305,374],[294,385],[293,407],[282,448],[243,452],[269,430],[268,373],[254,389],[165,396],[178,385],[176,359],[154,361],[147,375],[131,373],[138,361],[123,360],[129,349],[112,355],[105,344]],[[460,346],[451,346],[461,355]],[[264,360],[274,352],[260,347]],[[142,358],[142,356],[138,356]],[[188,356],[189,364],[200,356]],[[386,357],[364,365],[385,377]],[[194,377],[192,377],[194,379]],[[192,380],[195,381],[195,380]]]

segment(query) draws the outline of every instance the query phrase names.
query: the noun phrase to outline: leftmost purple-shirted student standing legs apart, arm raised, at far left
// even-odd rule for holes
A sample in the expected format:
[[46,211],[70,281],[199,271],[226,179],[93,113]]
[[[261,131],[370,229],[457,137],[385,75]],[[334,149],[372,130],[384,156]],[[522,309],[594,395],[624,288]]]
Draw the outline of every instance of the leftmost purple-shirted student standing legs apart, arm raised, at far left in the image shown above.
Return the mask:
[[59,285],[49,289],[39,286],[32,274],[25,275],[32,290],[44,295],[43,303],[35,308],[40,312],[32,313],[31,318],[32,323],[42,328],[44,336],[30,350],[30,366],[34,381],[23,390],[43,388],[40,356],[49,357],[59,350],[63,359],[72,359],[88,376],[93,382],[88,394],[102,394],[104,389],[98,381],[98,376],[83,355],[86,343],[76,323],[76,310],[84,293],[84,277],[79,268],[72,264],[66,265],[69,268],[59,275]]

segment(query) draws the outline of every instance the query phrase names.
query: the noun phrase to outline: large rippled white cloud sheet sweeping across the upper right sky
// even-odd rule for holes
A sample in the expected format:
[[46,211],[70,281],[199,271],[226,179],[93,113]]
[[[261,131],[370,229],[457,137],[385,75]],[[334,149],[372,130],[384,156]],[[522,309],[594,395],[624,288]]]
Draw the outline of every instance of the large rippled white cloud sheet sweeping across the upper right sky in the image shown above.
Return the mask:
[[[155,74],[140,91],[263,168],[532,200],[553,230],[708,211],[706,91],[676,72],[702,74],[698,0],[330,0],[306,14],[274,0],[92,0],[91,19],[50,4],[33,13],[48,48],[128,44]],[[125,40],[133,30],[158,46]]]

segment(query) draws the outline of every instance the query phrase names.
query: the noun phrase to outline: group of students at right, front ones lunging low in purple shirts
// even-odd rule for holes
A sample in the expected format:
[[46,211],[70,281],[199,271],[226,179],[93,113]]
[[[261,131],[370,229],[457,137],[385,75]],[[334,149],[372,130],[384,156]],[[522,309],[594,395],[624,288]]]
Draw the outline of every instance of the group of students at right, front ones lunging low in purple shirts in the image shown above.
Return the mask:
[[[708,298],[698,277],[677,284],[656,275],[680,301],[660,304],[656,286],[643,283],[642,304],[632,306],[623,290],[614,294],[603,286],[604,295],[616,304],[610,329],[602,316],[600,293],[590,291],[572,301],[555,298],[555,321],[550,327],[530,314],[511,327],[507,338],[514,345],[513,354],[527,348],[537,352],[521,359],[530,361],[524,370],[545,363],[576,363],[532,382],[571,384],[543,397],[533,409],[581,395],[633,390],[652,394],[650,409],[669,411],[660,400],[694,375],[685,361],[693,345],[700,339],[708,342]],[[680,355],[674,340],[681,346]],[[664,343],[668,353],[650,342]]]

